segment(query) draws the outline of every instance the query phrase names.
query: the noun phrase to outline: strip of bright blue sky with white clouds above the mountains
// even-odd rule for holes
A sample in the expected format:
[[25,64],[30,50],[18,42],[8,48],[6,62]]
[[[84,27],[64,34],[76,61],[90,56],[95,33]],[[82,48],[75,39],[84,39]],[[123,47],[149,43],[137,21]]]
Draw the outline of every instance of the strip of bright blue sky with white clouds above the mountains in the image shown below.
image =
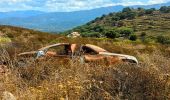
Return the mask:
[[18,10],[68,12],[115,5],[150,5],[169,1],[170,0],[0,0],[0,12]]

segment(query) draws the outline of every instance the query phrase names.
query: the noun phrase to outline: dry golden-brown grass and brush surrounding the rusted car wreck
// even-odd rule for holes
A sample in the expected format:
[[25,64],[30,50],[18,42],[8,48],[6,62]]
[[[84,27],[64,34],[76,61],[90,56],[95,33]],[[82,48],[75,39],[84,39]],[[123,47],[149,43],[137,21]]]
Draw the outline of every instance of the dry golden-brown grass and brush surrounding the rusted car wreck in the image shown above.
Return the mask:
[[[14,42],[0,47],[1,60],[8,61],[7,73],[0,75],[1,98],[2,92],[9,91],[18,100],[170,99],[169,46],[110,39],[69,39],[31,30],[21,33],[32,32],[32,35],[16,35],[13,34],[16,28],[9,29],[8,36],[11,34]],[[17,53],[58,42],[92,43],[111,52],[134,55],[140,64],[82,65],[78,59],[62,62],[49,59],[17,67]]]

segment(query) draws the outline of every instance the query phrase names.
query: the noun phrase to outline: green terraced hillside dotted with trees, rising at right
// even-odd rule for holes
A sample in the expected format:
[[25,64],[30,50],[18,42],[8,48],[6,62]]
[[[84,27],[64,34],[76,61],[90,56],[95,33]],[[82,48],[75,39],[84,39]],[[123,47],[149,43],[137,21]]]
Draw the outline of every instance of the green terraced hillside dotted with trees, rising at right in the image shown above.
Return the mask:
[[133,35],[138,39],[141,39],[143,34],[148,39],[154,40],[159,36],[170,37],[169,26],[170,12],[164,13],[153,8],[127,7],[121,12],[98,17],[85,25],[67,31],[66,34],[78,31],[84,37],[130,38],[130,35]]

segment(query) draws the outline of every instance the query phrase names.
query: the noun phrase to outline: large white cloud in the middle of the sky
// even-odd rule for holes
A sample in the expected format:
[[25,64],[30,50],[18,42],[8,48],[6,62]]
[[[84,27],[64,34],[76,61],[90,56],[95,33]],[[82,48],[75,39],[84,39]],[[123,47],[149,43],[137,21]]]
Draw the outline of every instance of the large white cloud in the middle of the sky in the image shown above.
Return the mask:
[[58,0],[48,0],[45,6],[51,11],[74,11],[104,7],[110,4],[113,4],[111,0],[63,0],[61,2],[58,2]]

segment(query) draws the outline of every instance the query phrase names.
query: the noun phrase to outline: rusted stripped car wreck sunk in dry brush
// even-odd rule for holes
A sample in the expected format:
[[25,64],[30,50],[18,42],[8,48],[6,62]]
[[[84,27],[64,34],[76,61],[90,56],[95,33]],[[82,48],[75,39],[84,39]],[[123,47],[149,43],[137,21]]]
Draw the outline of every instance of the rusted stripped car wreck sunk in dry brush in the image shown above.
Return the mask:
[[129,62],[138,64],[138,60],[134,56],[111,53],[107,50],[92,44],[70,44],[57,43],[38,49],[37,51],[20,53],[20,57],[34,57],[40,59],[43,57],[64,57],[69,59],[80,58],[83,63],[105,61],[108,64],[117,62]]

